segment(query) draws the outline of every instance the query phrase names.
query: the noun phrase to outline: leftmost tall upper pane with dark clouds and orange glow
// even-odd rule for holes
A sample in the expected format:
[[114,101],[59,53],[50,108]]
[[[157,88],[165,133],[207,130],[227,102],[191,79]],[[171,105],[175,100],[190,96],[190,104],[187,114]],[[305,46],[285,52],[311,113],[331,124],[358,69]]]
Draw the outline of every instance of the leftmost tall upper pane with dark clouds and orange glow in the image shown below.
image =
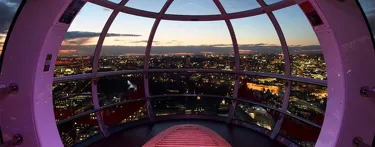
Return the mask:
[[89,73],[92,56],[112,10],[87,3],[78,13],[59,50],[55,76]]

